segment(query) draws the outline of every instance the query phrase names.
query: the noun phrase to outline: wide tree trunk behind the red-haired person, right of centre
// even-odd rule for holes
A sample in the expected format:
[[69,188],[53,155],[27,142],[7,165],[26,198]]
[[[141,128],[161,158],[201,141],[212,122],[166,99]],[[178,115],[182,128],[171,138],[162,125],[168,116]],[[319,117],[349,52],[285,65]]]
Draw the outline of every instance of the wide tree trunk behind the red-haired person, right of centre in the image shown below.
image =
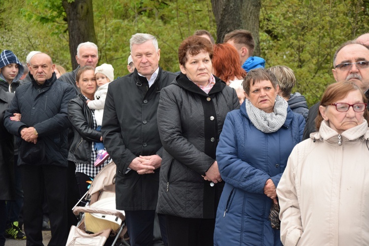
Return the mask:
[[236,29],[252,33],[254,56],[260,56],[259,15],[261,0],[212,0],[216,22],[216,42],[222,43],[225,34]]

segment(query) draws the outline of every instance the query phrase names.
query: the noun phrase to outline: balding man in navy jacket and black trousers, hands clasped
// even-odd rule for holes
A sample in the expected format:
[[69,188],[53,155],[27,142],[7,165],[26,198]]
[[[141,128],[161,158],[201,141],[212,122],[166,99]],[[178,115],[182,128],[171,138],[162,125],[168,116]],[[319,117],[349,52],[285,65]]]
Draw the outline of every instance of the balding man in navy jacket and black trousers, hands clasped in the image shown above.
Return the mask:
[[[17,89],[4,117],[6,129],[18,137],[27,245],[42,245],[45,192],[50,207],[50,245],[65,245],[67,105],[76,93],[72,86],[57,80],[55,64],[47,54],[34,55],[30,67],[31,83]],[[14,113],[20,113],[21,119],[14,119]]]

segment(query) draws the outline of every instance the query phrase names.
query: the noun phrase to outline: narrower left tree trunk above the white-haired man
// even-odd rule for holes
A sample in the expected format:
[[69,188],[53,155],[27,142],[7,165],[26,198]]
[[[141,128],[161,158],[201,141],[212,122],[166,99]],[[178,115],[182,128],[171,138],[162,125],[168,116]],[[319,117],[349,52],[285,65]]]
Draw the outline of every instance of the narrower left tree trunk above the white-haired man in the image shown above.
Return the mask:
[[62,4],[68,23],[69,53],[74,70],[78,66],[75,58],[77,55],[77,46],[87,41],[96,44],[92,0],[74,0],[72,2],[62,0]]

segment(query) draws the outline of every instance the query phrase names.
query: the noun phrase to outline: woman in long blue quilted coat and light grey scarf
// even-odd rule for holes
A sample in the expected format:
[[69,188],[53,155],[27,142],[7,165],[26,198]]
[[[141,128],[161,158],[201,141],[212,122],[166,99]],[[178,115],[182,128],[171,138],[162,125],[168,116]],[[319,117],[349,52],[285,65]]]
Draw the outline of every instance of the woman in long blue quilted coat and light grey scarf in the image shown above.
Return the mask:
[[302,140],[304,117],[278,96],[276,76],[264,68],[247,73],[246,100],[227,114],[216,149],[225,182],[217,208],[214,244],[282,245],[269,215],[276,187],[293,147]]

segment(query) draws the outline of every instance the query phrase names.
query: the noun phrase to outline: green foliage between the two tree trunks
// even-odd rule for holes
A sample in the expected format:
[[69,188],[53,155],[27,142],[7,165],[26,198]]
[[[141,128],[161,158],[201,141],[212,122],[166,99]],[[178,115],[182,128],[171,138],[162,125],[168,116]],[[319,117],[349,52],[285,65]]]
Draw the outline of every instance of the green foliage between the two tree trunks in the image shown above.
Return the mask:
[[[93,1],[100,63],[114,66],[117,76],[127,74],[132,34],[153,34],[159,43],[160,66],[178,71],[178,47],[197,29],[216,33],[210,0]],[[116,77],[117,77],[116,76]]]

